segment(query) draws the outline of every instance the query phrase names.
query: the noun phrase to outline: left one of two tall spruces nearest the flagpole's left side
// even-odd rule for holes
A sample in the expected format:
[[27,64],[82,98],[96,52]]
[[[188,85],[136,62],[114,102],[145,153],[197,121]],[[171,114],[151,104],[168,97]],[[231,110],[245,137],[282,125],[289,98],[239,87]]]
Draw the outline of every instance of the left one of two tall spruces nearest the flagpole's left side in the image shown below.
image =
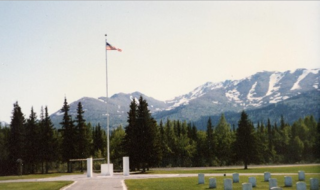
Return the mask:
[[63,107],[61,112],[63,112],[63,118],[61,124],[62,128],[62,159],[64,162],[68,163],[68,172],[72,172],[72,166],[70,159],[77,158],[76,150],[76,130],[74,123],[72,121],[71,115],[69,115],[70,106],[68,105],[67,99],[64,99]]

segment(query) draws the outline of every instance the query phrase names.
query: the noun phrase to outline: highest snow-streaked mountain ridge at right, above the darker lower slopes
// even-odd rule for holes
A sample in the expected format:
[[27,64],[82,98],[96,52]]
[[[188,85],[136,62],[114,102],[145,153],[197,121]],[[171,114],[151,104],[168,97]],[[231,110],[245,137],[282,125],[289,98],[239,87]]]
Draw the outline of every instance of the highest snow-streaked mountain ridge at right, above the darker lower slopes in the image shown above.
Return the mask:
[[[320,69],[297,69],[286,72],[258,72],[241,80],[208,82],[188,94],[166,101],[167,110],[188,105],[199,98],[210,104],[228,102],[239,109],[257,108],[277,103],[302,92],[319,89]],[[209,103],[209,102],[208,102]]]

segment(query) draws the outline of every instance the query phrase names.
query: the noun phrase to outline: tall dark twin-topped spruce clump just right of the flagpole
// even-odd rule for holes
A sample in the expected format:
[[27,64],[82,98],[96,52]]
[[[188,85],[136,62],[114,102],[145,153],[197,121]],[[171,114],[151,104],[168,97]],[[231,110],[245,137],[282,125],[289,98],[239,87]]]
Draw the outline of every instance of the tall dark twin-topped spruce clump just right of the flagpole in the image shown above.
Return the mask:
[[128,123],[124,144],[132,168],[141,166],[144,172],[147,167],[158,165],[162,158],[160,133],[142,96],[138,106],[135,100],[131,102]]

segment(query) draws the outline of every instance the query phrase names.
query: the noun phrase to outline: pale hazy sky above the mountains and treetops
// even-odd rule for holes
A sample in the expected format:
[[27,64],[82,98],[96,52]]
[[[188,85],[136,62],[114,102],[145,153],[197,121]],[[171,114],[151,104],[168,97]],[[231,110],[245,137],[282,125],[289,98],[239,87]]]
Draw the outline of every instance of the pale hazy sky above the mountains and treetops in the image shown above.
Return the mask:
[[105,34],[109,97],[320,67],[318,1],[0,1],[0,121],[106,96]]

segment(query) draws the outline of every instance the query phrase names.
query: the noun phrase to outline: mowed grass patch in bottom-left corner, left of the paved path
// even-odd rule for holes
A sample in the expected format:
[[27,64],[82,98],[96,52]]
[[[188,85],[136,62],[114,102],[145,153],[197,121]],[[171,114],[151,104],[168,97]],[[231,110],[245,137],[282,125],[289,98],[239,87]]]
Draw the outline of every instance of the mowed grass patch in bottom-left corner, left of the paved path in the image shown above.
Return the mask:
[[73,181],[53,181],[53,182],[16,182],[0,183],[0,189],[5,190],[58,190],[73,183]]

